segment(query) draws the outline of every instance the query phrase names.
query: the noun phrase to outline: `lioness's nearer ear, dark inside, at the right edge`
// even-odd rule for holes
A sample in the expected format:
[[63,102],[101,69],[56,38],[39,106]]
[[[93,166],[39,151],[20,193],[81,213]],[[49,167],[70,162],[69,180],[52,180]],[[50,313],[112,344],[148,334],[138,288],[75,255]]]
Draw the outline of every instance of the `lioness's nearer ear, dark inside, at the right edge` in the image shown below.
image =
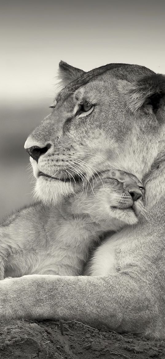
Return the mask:
[[145,76],[127,89],[127,107],[136,112],[139,108],[151,105],[154,113],[160,106],[161,99],[165,96],[165,76],[154,74]]

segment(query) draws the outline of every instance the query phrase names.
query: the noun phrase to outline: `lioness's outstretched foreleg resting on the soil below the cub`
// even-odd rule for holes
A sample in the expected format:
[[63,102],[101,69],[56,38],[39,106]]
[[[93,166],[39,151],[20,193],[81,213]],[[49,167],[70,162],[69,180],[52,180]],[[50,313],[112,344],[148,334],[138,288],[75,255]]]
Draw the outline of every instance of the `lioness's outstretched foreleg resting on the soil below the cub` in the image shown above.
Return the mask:
[[5,279],[0,282],[0,318],[62,318],[146,334],[154,334],[152,321],[155,326],[157,322],[147,284],[140,277],[135,280],[120,273],[105,277],[28,275]]

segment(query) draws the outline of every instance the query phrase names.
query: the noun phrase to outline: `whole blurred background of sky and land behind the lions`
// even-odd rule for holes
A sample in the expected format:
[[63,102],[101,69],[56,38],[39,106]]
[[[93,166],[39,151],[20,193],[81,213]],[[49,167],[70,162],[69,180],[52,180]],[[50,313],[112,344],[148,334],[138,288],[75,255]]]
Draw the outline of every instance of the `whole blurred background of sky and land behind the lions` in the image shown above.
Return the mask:
[[165,73],[165,3],[0,2],[0,219],[33,201],[24,142],[50,110],[58,62],[83,70],[126,62]]

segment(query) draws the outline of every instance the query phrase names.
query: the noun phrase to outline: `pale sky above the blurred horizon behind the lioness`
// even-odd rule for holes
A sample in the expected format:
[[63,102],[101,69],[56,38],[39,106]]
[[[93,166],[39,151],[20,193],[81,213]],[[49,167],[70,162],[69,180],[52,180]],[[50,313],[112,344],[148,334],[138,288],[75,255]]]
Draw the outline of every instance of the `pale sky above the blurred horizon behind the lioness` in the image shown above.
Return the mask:
[[165,73],[165,2],[1,0],[2,103],[53,98],[62,59],[90,70],[126,62]]

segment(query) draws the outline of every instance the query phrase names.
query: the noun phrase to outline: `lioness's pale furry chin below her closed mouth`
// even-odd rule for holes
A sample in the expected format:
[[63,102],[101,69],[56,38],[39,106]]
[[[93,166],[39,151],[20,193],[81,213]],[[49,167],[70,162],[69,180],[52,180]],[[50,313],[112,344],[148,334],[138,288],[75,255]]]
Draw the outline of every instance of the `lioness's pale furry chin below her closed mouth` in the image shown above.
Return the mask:
[[58,203],[62,198],[74,194],[74,187],[70,182],[56,180],[45,180],[42,177],[37,179],[35,185],[35,197],[45,204]]

